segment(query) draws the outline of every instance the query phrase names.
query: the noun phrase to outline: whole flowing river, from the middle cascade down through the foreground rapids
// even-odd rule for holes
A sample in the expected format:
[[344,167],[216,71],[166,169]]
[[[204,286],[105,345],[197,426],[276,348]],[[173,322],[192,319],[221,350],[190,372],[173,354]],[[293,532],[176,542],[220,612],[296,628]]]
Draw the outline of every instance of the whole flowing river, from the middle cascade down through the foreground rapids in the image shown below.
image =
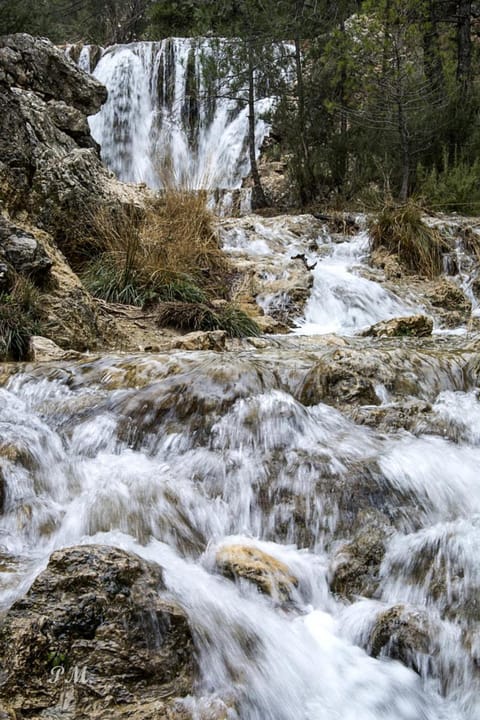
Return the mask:
[[[5,368],[4,609],[55,549],[113,545],[164,568],[229,718],[478,720],[478,343],[322,335],[405,309],[364,243],[322,255],[297,333]],[[288,600],[219,574],[237,546]]]

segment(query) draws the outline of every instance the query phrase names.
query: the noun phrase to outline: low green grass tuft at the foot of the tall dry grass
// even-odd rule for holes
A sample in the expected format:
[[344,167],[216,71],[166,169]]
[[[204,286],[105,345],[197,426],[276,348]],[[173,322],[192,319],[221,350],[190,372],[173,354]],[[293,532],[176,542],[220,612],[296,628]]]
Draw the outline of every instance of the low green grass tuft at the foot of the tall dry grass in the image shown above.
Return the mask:
[[257,323],[234,305],[213,308],[205,303],[164,302],[157,308],[160,327],[181,330],[225,330],[230,337],[256,337],[260,335]]

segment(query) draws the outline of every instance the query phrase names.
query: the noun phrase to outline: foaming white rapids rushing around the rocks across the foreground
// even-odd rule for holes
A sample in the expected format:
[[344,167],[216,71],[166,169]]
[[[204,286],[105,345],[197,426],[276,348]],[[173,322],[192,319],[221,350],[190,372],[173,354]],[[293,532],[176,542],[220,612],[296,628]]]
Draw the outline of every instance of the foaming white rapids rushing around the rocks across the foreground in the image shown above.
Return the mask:
[[[304,407],[295,374],[291,389],[280,380],[279,361],[291,362],[274,353],[105,358],[14,376],[0,390],[1,441],[19,456],[0,453],[3,606],[55,548],[111,544],[165,568],[194,631],[198,693],[233,697],[231,718],[477,720],[479,678],[464,643],[475,623],[447,617],[479,590],[477,435],[466,437],[475,445],[385,437],[326,405]],[[122,388],[129,368],[137,387]],[[180,421],[183,401],[190,410]],[[460,416],[478,422],[476,397],[448,384],[435,408],[449,427]],[[388,512],[408,497],[414,510],[400,513],[379,596],[346,605],[328,587],[346,532],[336,488],[359,472]],[[290,611],[216,573],[216,549],[238,543],[298,578]],[[420,572],[422,557],[430,570]],[[431,580],[445,573],[437,598]],[[435,628],[434,655],[414,658],[419,674],[365,652],[378,614],[398,603]]]

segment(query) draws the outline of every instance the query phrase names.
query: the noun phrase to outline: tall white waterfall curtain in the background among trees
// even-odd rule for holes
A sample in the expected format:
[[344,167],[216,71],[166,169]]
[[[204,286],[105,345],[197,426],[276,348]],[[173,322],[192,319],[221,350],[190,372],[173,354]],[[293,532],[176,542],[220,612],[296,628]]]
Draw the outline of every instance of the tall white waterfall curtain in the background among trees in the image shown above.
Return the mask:
[[[107,48],[94,76],[108,89],[90,118],[106,165],[125,182],[237,189],[250,171],[248,108],[231,82],[213,82],[216,46],[169,38]],[[86,64],[86,57],[81,58]],[[256,102],[256,150],[268,133],[271,98]]]

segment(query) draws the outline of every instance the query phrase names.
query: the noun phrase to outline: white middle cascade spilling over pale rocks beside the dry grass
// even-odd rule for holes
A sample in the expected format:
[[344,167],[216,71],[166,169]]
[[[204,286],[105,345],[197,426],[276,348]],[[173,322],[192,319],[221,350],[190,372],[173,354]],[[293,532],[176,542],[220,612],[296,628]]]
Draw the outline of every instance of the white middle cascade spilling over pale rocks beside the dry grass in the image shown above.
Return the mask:
[[[288,305],[285,281],[292,272],[292,258],[302,255],[312,268],[313,287],[303,316],[297,319],[298,334],[355,335],[381,320],[422,312],[420,301],[402,300],[376,279],[364,276],[370,242],[366,231],[353,237],[332,236],[323,228],[316,237],[306,238],[301,234],[301,216],[297,220],[252,216],[246,221],[226,225],[223,246],[234,256],[248,257],[256,274],[263,274],[267,289],[256,300],[267,315]],[[269,282],[280,289],[269,292]]]

